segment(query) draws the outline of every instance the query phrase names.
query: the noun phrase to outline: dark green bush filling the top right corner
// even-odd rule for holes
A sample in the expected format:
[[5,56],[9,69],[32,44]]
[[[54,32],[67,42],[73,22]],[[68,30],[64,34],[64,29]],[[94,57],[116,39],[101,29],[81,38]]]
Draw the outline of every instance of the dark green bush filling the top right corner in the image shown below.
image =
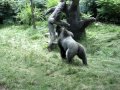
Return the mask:
[[98,20],[120,24],[120,1],[98,0]]

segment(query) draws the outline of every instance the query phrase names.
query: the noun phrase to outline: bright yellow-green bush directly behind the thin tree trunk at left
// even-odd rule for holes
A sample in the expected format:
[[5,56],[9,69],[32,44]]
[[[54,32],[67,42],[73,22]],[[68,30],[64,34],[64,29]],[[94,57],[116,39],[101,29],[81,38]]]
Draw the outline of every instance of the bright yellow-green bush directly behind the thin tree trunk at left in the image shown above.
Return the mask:
[[[16,18],[20,23],[31,25],[32,12],[31,12],[30,2],[27,1],[25,3],[26,4],[17,13]],[[35,15],[35,20],[42,21],[45,19],[43,11],[41,11],[41,9],[36,8],[36,6],[34,8],[34,15]]]

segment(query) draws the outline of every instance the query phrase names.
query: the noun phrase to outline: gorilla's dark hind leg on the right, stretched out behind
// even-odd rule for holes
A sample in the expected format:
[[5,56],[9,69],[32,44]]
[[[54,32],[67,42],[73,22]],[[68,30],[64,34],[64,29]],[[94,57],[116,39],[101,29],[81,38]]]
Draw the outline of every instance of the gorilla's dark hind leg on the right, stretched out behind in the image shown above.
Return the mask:
[[85,53],[85,50],[84,50],[84,48],[82,46],[79,46],[79,48],[78,48],[78,54],[77,55],[78,55],[78,57],[80,59],[82,59],[83,64],[87,65],[86,53]]

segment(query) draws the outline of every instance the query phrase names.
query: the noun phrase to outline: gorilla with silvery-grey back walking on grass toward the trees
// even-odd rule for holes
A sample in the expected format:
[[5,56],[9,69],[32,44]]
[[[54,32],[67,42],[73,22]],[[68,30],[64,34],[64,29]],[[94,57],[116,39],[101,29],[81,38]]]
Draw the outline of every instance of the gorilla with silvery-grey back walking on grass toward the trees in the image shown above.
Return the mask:
[[75,55],[77,55],[84,65],[87,65],[87,58],[84,47],[76,42],[73,38],[73,33],[66,30],[65,28],[61,29],[58,46],[60,48],[60,54],[63,59],[67,58],[70,63]]

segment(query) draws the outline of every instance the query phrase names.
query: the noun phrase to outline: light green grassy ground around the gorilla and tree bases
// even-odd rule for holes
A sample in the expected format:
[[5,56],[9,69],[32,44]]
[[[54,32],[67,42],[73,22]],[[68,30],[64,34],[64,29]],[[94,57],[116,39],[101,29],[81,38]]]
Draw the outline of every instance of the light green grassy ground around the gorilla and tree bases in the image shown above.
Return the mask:
[[48,52],[41,24],[0,27],[0,88],[8,90],[120,90],[120,26],[101,24],[87,28],[88,66],[74,58],[63,62],[59,50]]

